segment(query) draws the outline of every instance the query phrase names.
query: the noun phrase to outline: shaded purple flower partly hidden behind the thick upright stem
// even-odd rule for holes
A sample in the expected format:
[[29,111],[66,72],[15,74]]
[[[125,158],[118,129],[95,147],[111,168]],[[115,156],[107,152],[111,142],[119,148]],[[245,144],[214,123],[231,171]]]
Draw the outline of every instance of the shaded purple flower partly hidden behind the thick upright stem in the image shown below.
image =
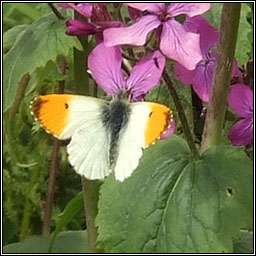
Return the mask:
[[[198,97],[205,102],[210,100],[213,71],[216,62],[216,51],[211,48],[217,45],[218,31],[202,16],[188,18],[183,24],[187,31],[200,34],[200,48],[203,59],[199,61],[194,70],[188,70],[179,63],[174,66],[178,79],[187,85],[192,85]],[[237,62],[234,61],[232,75],[239,76]]]

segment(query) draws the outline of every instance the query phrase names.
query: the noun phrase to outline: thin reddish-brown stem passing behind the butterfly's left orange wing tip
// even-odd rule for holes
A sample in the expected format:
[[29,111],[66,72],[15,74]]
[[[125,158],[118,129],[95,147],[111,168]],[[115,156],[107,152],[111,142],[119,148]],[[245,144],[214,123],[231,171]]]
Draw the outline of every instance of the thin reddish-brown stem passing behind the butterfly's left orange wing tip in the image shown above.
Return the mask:
[[[60,59],[60,71],[63,75],[66,73],[66,58],[61,57]],[[59,94],[64,93],[65,81],[59,82]],[[59,147],[60,142],[57,138],[53,138],[53,149],[52,149],[52,162],[49,171],[49,181],[48,181],[48,190],[47,190],[47,198],[45,202],[45,214],[43,220],[43,229],[42,234],[48,235],[50,233],[51,226],[51,217],[52,217],[52,208],[54,201],[54,188],[55,188],[55,180],[57,176],[57,170],[59,167]]]

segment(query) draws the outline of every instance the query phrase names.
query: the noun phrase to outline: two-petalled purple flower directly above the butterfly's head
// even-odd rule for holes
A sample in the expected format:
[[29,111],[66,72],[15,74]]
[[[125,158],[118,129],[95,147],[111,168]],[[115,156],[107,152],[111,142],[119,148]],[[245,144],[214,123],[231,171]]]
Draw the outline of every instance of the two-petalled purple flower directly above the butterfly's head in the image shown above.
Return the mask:
[[106,47],[104,43],[100,43],[88,58],[92,77],[104,92],[115,96],[120,91],[126,91],[130,93],[132,101],[139,101],[159,82],[165,57],[160,51],[149,54],[133,67],[129,77],[124,76],[121,65],[119,46]]

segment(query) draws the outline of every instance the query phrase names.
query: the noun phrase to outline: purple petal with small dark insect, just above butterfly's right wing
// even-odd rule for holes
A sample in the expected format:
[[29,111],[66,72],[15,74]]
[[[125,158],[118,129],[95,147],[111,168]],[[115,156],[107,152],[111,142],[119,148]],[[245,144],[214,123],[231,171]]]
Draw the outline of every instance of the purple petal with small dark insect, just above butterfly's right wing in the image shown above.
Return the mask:
[[127,80],[127,89],[131,90],[133,100],[148,93],[160,81],[165,67],[165,57],[155,51],[138,62]]

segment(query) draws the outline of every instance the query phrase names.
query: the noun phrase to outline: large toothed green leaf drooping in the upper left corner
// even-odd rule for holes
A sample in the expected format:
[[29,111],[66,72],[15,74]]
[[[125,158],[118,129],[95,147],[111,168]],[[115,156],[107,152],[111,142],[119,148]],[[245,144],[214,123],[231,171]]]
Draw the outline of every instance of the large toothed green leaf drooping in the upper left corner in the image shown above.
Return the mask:
[[55,61],[60,54],[67,55],[73,47],[82,50],[79,40],[67,36],[65,31],[65,21],[50,14],[29,25],[19,35],[3,61],[4,111],[13,104],[17,85],[23,75],[32,74],[49,60]]

